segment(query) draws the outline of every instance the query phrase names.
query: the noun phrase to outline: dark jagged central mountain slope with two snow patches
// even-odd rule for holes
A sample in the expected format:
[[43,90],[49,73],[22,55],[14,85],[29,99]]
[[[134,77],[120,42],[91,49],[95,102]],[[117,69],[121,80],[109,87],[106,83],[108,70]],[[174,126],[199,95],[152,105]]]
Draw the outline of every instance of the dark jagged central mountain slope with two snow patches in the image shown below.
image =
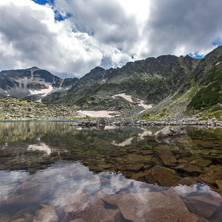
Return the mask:
[[[74,103],[83,109],[127,109],[129,113],[137,107],[138,112],[145,107],[141,103],[157,104],[174,94],[190,80],[189,73],[198,63],[189,56],[166,55],[129,62],[117,69],[96,67],[65,94],[51,94],[43,101]],[[123,95],[131,96],[132,101]]]

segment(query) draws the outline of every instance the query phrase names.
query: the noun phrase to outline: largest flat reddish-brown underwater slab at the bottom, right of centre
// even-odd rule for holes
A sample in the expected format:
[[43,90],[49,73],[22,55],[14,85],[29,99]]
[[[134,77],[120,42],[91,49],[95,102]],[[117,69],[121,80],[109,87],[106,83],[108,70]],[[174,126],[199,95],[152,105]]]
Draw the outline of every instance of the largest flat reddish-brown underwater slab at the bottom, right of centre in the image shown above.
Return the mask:
[[201,221],[187,210],[183,201],[172,190],[162,193],[120,193],[105,197],[103,200],[118,206],[124,219],[130,221]]

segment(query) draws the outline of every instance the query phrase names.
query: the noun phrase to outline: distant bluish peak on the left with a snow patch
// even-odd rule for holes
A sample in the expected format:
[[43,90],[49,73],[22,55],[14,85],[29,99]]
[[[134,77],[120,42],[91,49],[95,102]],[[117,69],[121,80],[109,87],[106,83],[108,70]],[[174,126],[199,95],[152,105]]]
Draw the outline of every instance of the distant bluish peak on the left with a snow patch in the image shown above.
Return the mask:
[[67,90],[77,80],[63,80],[37,67],[5,70],[0,72],[0,96],[40,101],[50,93]]

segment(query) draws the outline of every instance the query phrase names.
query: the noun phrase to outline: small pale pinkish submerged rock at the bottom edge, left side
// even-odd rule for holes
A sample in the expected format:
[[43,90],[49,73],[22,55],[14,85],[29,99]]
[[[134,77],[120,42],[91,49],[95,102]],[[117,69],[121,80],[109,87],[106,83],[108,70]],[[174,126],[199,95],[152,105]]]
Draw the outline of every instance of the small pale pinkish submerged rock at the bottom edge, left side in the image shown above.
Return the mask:
[[33,222],[57,222],[59,218],[56,214],[54,206],[42,205],[42,209],[36,212],[36,218]]

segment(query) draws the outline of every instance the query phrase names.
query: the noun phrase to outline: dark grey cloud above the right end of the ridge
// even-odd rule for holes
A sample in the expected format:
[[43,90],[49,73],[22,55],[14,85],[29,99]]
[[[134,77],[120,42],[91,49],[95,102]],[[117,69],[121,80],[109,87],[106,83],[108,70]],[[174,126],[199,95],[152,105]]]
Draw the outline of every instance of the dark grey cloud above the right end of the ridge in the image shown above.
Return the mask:
[[145,32],[149,36],[149,53],[206,54],[222,36],[221,8],[220,0],[155,1]]

